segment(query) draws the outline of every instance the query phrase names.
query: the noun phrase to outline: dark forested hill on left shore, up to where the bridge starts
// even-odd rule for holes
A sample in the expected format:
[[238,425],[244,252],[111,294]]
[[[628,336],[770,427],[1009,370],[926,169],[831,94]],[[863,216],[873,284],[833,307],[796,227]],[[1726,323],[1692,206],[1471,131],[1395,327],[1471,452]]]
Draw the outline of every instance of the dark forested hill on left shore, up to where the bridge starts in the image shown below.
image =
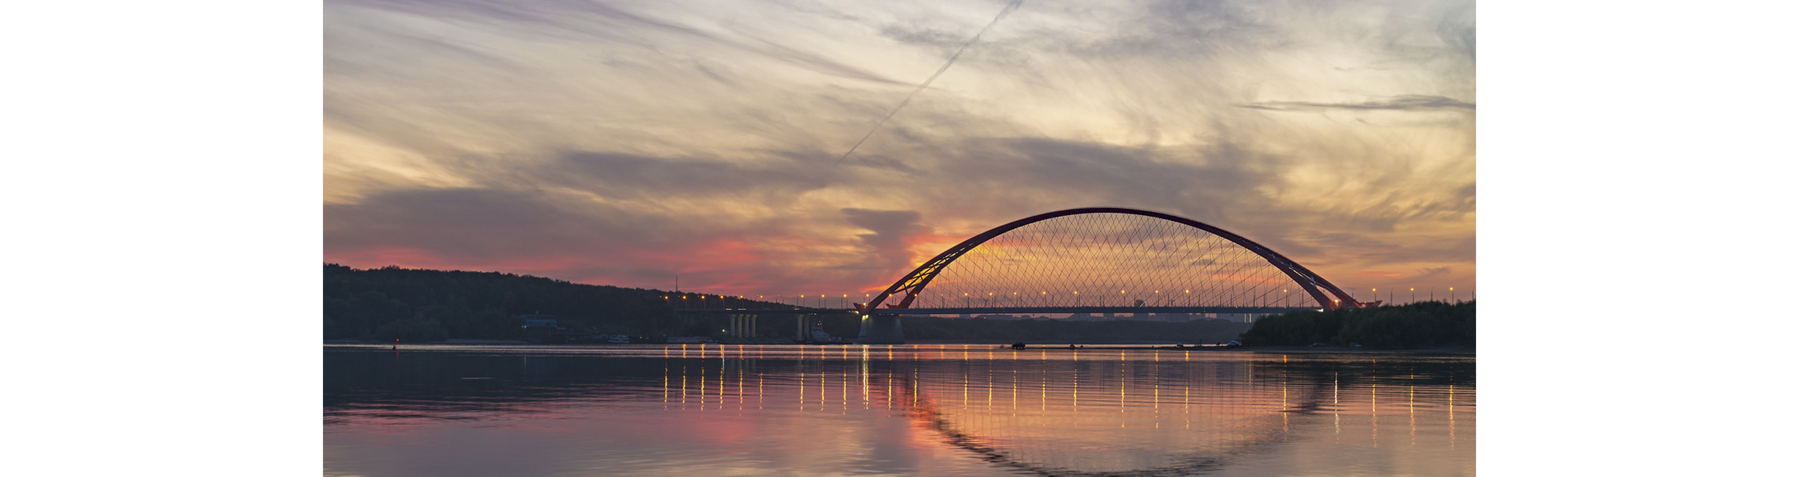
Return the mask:
[[667,292],[498,272],[327,263],[324,281],[326,338],[518,338],[518,315],[533,313],[556,315],[574,329],[646,335],[675,317]]

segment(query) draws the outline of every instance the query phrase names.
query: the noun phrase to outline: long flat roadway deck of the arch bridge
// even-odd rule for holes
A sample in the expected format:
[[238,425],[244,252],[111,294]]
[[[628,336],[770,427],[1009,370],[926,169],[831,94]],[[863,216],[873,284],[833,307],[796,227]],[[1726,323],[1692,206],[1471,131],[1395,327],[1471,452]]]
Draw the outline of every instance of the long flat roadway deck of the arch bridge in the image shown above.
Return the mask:
[[[962,308],[882,308],[876,315],[1060,315],[1060,313],[1256,313],[1277,315],[1317,306],[962,306]],[[676,313],[721,315],[786,315],[786,313],[856,313],[855,308],[687,308]]]

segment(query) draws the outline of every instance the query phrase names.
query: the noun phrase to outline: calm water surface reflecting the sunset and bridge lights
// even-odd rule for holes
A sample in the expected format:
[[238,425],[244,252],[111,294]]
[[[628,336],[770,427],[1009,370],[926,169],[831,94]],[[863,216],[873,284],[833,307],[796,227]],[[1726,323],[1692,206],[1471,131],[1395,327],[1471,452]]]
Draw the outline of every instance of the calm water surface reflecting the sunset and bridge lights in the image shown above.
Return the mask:
[[1473,355],[326,346],[324,475],[1473,475]]

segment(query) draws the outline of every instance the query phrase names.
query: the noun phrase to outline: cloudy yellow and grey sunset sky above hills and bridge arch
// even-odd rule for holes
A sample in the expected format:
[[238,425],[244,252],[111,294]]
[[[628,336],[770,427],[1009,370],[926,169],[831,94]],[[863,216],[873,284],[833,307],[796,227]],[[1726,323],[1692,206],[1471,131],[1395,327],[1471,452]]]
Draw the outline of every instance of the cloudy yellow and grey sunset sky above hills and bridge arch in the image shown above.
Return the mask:
[[327,0],[324,261],[835,295],[1114,205],[1468,299],[1473,13]]

